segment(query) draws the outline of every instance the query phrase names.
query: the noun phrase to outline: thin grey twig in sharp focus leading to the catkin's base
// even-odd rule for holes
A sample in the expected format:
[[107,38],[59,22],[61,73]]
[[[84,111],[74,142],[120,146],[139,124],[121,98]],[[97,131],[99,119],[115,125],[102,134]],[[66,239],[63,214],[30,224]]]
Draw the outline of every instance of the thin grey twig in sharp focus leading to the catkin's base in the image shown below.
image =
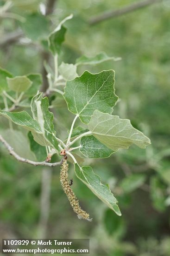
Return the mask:
[[49,162],[45,162],[45,161],[44,162],[34,162],[31,160],[28,160],[28,159],[25,159],[25,158],[19,156],[17,153],[15,153],[13,148],[8,144],[8,142],[1,135],[0,135],[0,141],[5,145],[5,147],[9,151],[10,155],[13,155],[15,157],[15,159],[17,159],[19,162],[29,163],[34,166],[42,165],[42,166],[49,166],[49,167],[54,167],[54,166],[60,165],[63,162],[63,160],[60,162],[54,162],[54,163],[49,163]]

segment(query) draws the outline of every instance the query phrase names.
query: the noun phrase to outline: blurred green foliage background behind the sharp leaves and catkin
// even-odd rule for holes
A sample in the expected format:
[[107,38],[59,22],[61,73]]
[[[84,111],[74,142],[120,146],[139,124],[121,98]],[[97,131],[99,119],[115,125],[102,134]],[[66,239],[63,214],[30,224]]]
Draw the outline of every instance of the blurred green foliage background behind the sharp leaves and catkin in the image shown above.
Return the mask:
[[[0,0],[0,6],[6,1]],[[31,167],[17,162],[0,145],[0,239],[89,238],[92,256],[170,255],[170,2],[160,3],[102,21],[90,18],[121,8],[130,0],[13,0],[10,15],[0,14],[0,66],[15,75],[42,72],[46,58],[46,36],[70,13],[60,62],[75,63],[82,54],[101,51],[120,56],[121,61],[79,67],[92,73],[114,69],[116,94],[114,114],[128,118],[151,138],[146,149],[130,147],[109,159],[84,159],[103,183],[109,183],[118,198],[122,216],[97,199],[74,175],[73,189],[93,222],[79,220],[70,208],[59,182],[59,168]],[[40,8],[41,7],[41,8]],[[41,12],[40,12],[41,9]],[[19,15],[19,16],[18,16]],[[25,18],[23,22],[22,18]],[[19,34],[8,40],[9,35]],[[53,65],[51,55],[46,61]],[[73,115],[57,95],[57,132],[63,138]],[[0,119],[0,128],[8,128]],[[9,132],[4,135],[7,138]],[[11,135],[14,148],[31,157],[27,137]],[[17,138],[17,139],[15,139]],[[48,216],[48,218],[46,218]],[[48,220],[47,220],[48,219]]]

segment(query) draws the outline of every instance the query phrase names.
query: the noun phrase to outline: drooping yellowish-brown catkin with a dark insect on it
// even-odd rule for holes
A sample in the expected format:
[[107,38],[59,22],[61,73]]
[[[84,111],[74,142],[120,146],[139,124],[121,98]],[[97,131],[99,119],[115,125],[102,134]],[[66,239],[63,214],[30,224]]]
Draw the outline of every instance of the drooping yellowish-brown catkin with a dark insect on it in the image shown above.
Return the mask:
[[88,221],[91,221],[92,219],[89,218],[89,214],[82,210],[82,208],[79,205],[79,201],[76,198],[76,195],[74,194],[73,190],[71,189],[71,186],[69,185],[68,181],[68,168],[69,165],[67,164],[67,161],[64,160],[61,165],[61,171],[60,171],[60,182],[62,184],[63,190],[65,194],[67,195],[69,202],[74,210],[76,212],[79,219],[86,219]]

